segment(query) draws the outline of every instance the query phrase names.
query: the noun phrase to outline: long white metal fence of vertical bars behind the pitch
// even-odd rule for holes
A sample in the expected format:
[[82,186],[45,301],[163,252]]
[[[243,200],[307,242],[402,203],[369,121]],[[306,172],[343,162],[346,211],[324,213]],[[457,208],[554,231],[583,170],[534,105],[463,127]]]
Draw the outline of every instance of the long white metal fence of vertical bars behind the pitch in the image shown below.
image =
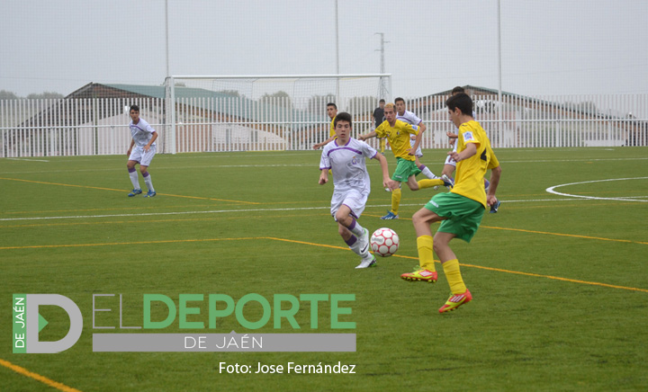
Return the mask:
[[[447,147],[454,130],[447,96],[408,99],[408,110],[428,127],[423,148]],[[520,97],[473,95],[477,120],[495,148],[648,146],[648,94]],[[373,126],[372,99],[346,99],[355,133]],[[301,150],[329,137],[326,101],[294,109],[273,97],[182,98],[175,102],[175,135],[165,100],[67,99],[0,101],[0,157],[124,154],[130,144],[128,107],[157,129],[158,152],[175,138],[175,151]]]

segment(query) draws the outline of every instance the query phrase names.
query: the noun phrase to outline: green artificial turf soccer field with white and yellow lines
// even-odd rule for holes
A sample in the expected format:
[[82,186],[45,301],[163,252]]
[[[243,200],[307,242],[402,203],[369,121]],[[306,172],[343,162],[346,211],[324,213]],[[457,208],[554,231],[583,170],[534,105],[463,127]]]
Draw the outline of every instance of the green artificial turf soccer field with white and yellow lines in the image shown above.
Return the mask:
[[[158,155],[152,199],[126,197],[126,156],[0,159],[0,390],[648,389],[648,148],[495,152],[500,212],[484,215],[471,244],[451,244],[473,301],[445,315],[437,313],[450,292],[440,266],[434,285],[400,274],[418,264],[411,215],[446,189],[404,189],[401,218],[381,220],[391,199],[375,161],[360,222],[370,231],[391,227],[401,247],[377,268],[356,270],[358,257],[329,215],[333,184],[318,184],[320,152]],[[446,151],[424,154],[422,163],[440,172]],[[72,299],[83,315],[76,344],[13,353],[15,293]],[[299,328],[286,318],[275,328],[271,317],[246,329],[234,315],[208,327],[210,294],[238,301],[251,293],[271,304],[275,294],[353,294],[340,305],[351,313],[337,317],[355,328],[333,328],[327,301],[317,328],[304,301],[294,315]],[[96,294],[115,296],[93,305]],[[178,308],[181,294],[202,294],[190,302],[200,313],[185,321],[204,328],[181,328],[179,316],[155,331],[120,328],[142,325],[144,294]],[[93,311],[102,307],[112,312]],[[164,310],[154,307],[152,317],[163,320]],[[59,307],[40,307],[40,315],[49,322],[40,341],[70,329]],[[248,320],[264,315],[246,308]],[[93,352],[93,334],[232,330],[356,334],[356,351]],[[253,371],[259,363],[287,370],[289,362],[340,362],[355,373],[230,374],[220,362]]]

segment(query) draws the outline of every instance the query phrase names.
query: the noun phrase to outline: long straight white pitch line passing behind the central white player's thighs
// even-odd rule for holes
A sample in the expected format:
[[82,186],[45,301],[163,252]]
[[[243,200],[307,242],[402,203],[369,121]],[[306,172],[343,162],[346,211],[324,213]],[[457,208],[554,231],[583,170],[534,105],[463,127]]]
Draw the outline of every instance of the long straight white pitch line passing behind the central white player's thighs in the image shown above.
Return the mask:
[[[527,203],[536,201],[574,201],[573,199],[536,199],[536,200],[500,200],[502,203]],[[631,200],[635,201],[635,200]],[[401,207],[420,207],[420,204],[401,204]],[[386,208],[392,207],[392,204],[374,204],[366,208]],[[273,212],[273,211],[307,211],[312,209],[327,209],[329,206],[321,207],[295,207],[290,209],[215,209],[209,211],[176,211],[176,212],[148,212],[139,214],[103,214],[103,215],[71,215],[67,217],[31,217],[31,218],[0,218],[0,222],[15,220],[49,220],[49,219],[85,219],[85,218],[119,218],[119,217],[146,217],[146,216],[165,216],[165,215],[191,215],[191,214],[225,214],[238,212]]]

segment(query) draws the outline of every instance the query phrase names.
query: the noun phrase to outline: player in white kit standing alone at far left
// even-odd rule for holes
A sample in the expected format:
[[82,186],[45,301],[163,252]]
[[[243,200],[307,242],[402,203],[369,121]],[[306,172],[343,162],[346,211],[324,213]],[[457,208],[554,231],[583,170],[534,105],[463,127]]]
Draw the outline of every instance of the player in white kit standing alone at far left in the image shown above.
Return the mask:
[[[142,177],[144,177],[144,183],[146,183],[148,188],[148,192],[144,197],[151,198],[157,193],[153,188],[150,174],[148,174],[148,166],[150,165],[151,160],[153,160],[153,156],[155,156],[157,150],[155,143],[157,132],[146,120],[139,118],[138,105],[130,106],[129,128],[132,140],[130,141],[129,150],[126,153],[126,155],[129,156],[129,161],[126,166],[129,170],[130,182],[133,184],[133,190],[130,191],[128,196],[133,197],[141,193],[137,170],[135,170],[135,165],[139,164],[139,171],[141,172]],[[133,147],[135,148],[133,149]]]

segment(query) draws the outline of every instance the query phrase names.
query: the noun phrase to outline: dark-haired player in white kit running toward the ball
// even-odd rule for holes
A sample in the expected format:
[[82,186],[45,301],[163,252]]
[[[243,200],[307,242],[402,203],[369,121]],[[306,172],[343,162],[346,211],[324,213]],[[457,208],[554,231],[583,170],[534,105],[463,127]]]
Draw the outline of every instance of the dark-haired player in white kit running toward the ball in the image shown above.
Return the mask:
[[331,216],[338,222],[338,233],[357,255],[356,268],[374,267],[375,256],[369,252],[369,231],[357,219],[365,210],[371,192],[371,181],[366,170],[366,158],[377,159],[383,171],[383,187],[394,190],[399,183],[389,177],[387,159],[364,141],[351,138],[353,122],[347,112],[338,113],[334,122],[338,138],[322,150],[320,160],[320,185],[329,182],[329,169],[333,174]]

